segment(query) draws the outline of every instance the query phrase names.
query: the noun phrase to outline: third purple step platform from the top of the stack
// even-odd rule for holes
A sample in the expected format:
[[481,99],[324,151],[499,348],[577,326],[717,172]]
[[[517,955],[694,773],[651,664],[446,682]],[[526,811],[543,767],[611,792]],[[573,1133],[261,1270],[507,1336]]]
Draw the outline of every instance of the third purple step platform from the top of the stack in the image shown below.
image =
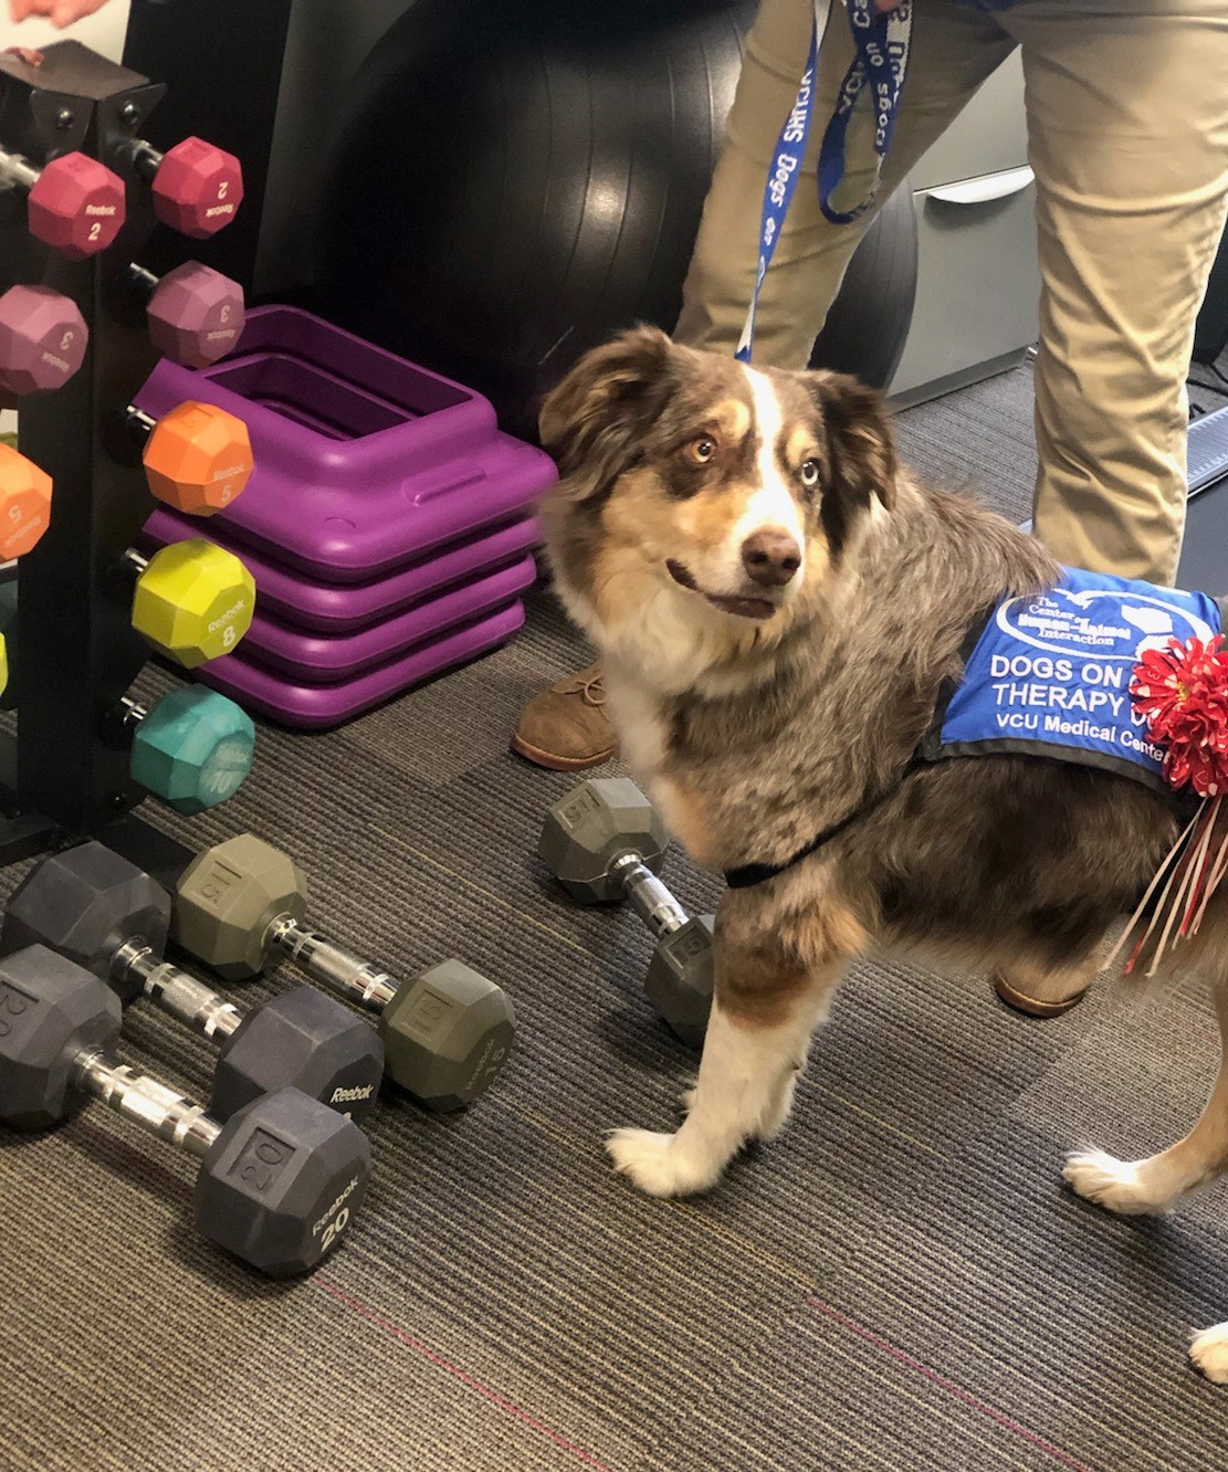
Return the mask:
[[240,645],[243,658],[305,684],[336,684],[405,654],[459,624],[486,617],[530,587],[537,567],[530,553],[498,573],[487,573],[408,614],[356,633],[327,637],[292,629],[258,612]]

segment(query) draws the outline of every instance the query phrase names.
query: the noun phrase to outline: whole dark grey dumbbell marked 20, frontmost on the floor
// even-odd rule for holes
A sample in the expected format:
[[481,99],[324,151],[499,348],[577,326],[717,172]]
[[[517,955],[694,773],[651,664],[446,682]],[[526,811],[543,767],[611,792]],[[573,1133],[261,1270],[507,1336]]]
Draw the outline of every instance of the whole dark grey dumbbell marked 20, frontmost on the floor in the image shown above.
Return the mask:
[[119,998],[43,945],[0,961],[0,1120],[47,1129],[99,1098],[200,1158],[197,1229],[269,1278],[309,1273],[343,1238],[371,1175],[367,1136],[297,1089],[225,1125],[113,1057]]

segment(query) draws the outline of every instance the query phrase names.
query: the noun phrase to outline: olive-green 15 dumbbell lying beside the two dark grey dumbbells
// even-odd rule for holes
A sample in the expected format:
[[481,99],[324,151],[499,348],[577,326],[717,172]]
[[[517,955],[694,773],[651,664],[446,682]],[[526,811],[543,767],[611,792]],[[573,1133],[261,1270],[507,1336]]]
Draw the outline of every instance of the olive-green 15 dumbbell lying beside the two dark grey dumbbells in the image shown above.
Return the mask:
[[174,894],[171,939],[227,980],[289,960],[312,980],[378,1014],[384,1078],[437,1113],[495,1082],[515,1039],[511,998],[462,961],[403,982],[306,927],[308,886],[281,849],[241,833],[158,877]]

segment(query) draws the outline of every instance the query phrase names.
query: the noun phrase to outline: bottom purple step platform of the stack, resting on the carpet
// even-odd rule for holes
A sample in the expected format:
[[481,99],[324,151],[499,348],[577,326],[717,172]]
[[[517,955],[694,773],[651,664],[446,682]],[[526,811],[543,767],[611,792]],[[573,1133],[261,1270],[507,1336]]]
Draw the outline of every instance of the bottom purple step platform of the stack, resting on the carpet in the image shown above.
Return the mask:
[[281,726],[302,730],[327,730],[420,684],[443,670],[489,654],[524,623],[524,605],[517,599],[486,618],[455,629],[424,648],[364,670],[337,684],[294,684],[259,664],[243,658],[243,645],[224,659],[200,665],[196,674],[205,684],[239,701],[244,710],[265,715]]

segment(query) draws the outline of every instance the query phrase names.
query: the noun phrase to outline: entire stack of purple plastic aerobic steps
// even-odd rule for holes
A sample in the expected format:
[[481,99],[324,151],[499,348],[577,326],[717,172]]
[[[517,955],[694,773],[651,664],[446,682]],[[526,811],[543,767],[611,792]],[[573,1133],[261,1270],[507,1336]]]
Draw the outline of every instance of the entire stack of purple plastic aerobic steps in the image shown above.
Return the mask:
[[202,526],[160,506],[149,546],[200,536],[256,580],[243,643],[196,673],[283,726],[339,726],[505,643],[533,583],[542,450],[499,433],[480,394],[309,312],[264,306],[203,369],[160,362],[137,403],[243,420],[256,468]]

